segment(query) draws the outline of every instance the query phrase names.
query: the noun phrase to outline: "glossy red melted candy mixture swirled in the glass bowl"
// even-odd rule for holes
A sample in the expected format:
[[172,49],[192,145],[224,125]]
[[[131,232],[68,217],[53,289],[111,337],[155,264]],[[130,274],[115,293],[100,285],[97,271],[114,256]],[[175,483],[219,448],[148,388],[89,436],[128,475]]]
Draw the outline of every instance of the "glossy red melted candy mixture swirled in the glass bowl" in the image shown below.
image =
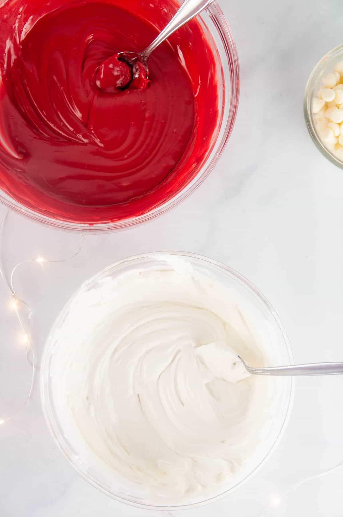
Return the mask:
[[1,189],[40,214],[93,224],[145,214],[194,178],[218,116],[198,21],[153,52],[148,84],[126,82],[126,63],[107,67],[146,48],[175,11],[171,0],[2,5]]

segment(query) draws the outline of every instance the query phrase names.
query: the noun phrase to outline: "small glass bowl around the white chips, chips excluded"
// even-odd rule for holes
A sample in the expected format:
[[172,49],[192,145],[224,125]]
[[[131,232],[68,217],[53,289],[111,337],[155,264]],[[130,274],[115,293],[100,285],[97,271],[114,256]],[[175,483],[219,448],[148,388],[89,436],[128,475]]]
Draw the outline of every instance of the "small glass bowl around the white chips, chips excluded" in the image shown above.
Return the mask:
[[322,78],[328,73],[332,73],[336,63],[341,60],[343,60],[343,44],[334,48],[328,52],[328,54],[325,54],[324,57],[322,57],[321,60],[317,63],[307,81],[304,99],[304,115],[309,134],[311,135],[318,149],[325,156],[325,158],[328,158],[332,163],[343,169],[343,161],[341,161],[334,153],[332,153],[330,149],[325,147],[324,143],[321,141],[318,130],[316,128],[316,119],[314,117],[314,113],[312,112],[312,102],[320,89]]

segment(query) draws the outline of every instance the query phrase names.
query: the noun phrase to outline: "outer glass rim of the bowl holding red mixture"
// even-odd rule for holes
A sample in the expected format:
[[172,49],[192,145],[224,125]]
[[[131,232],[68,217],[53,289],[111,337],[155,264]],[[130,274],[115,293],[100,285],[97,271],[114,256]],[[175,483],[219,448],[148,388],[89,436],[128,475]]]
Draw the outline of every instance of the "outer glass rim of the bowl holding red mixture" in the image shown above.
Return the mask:
[[[230,28],[227,24],[227,21],[224,17],[224,13],[222,9],[214,2],[207,9],[207,13],[210,16],[212,21],[212,25],[208,28],[216,29],[218,32],[222,45],[224,47],[224,51],[226,54],[225,62],[222,62],[223,66],[228,66],[230,69],[231,81],[230,81],[230,100],[229,100],[229,112],[225,119],[221,121],[221,128],[224,128],[224,134],[222,135],[222,139],[219,142],[219,146],[216,150],[216,153],[211,158],[211,154],[208,156],[206,162],[202,165],[201,169],[198,171],[196,176],[192,179],[192,181],[186,185],[180,192],[178,192],[174,197],[171,197],[168,201],[164,202],[157,208],[154,208],[146,214],[141,216],[136,216],[133,218],[123,219],[120,221],[109,222],[109,223],[74,223],[70,221],[63,221],[59,219],[54,219],[50,216],[45,216],[43,214],[39,214],[35,210],[25,207],[21,203],[15,201],[10,195],[6,194],[2,190],[0,190],[0,201],[6,205],[8,208],[13,209],[16,212],[28,217],[31,220],[40,222],[42,224],[52,226],[58,230],[64,230],[75,233],[112,233],[116,231],[127,230],[130,227],[137,226],[142,224],[154,217],[157,217],[161,214],[164,214],[165,211],[173,208],[178,205],[182,201],[186,199],[199,185],[204,181],[210,172],[213,170],[217,161],[221,157],[225,146],[228,142],[228,139],[231,135],[233,126],[235,124],[237,110],[238,110],[238,101],[239,101],[239,93],[240,93],[240,68],[239,68],[239,60],[236,44],[233,41]],[[201,17],[200,17],[201,18]],[[223,112],[224,113],[224,112]],[[216,143],[219,141],[220,135],[217,136]],[[211,159],[210,159],[211,158]],[[210,159],[210,161],[209,161]]]

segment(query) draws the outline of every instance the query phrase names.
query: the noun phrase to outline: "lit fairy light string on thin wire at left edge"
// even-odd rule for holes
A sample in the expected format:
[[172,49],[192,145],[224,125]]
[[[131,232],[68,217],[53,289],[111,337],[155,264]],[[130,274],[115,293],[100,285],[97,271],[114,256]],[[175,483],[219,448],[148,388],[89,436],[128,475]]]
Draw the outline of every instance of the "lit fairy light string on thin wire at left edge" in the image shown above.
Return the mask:
[[[4,226],[5,226],[8,214],[9,214],[9,211],[6,212],[6,214],[4,215],[4,217],[0,223],[0,243],[1,244],[3,243]],[[27,402],[29,401],[29,399],[31,397],[32,390],[34,387],[34,382],[35,382],[36,358],[35,358],[33,342],[29,335],[29,327],[30,327],[30,321],[31,321],[31,317],[32,317],[32,310],[30,309],[28,303],[26,303],[26,301],[22,300],[18,296],[17,291],[15,291],[15,289],[14,289],[13,281],[14,281],[15,272],[17,272],[17,270],[19,268],[21,268],[23,265],[28,264],[28,263],[37,263],[40,265],[42,265],[43,263],[57,264],[60,262],[68,262],[68,261],[72,260],[80,253],[80,251],[83,247],[83,243],[84,243],[83,234],[81,235],[81,238],[82,238],[82,241],[81,241],[79,249],[77,249],[77,251],[71,257],[64,258],[63,260],[47,260],[46,258],[43,258],[40,255],[37,256],[36,258],[29,258],[28,260],[22,261],[19,264],[17,264],[16,266],[14,266],[14,268],[12,269],[12,271],[10,273],[9,279],[7,279],[7,277],[6,277],[5,269],[3,266],[3,264],[4,264],[3,263],[3,246],[0,246],[0,277],[3,279],[4,283],[6,284],[6,286],[8,288],[9,305],[10,305],[10,308],[12,310],[14,310],[15,314],[17,315],[19,326],[22,331],[22,341],[25,344],[25,358],[28,361],[28,363],[30,364],[30,367],[32,368],[30,386],[29,386],[29,390],[28,390],[24,403],[19,407],[19,409],[15,413],[10,415],[9,417],[0,418],[0,425],[4,424],[5,422],[8,422],[9,420],[12,420],[12,418],[17,416],[24,409],[24,407],[26,406]],[[22,317],[22,315],[20,313],[21,309],[25,310],[27,313],[27,317],[25,319]]]

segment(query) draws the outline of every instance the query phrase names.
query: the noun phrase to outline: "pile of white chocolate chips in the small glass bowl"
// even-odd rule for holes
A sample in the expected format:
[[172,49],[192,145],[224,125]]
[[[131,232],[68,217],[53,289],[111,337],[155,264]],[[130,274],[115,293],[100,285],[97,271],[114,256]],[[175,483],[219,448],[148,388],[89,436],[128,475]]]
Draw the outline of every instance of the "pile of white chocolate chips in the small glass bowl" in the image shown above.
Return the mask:
[[323,77],[312,111],[320,140],[343,161],[343,61]]

